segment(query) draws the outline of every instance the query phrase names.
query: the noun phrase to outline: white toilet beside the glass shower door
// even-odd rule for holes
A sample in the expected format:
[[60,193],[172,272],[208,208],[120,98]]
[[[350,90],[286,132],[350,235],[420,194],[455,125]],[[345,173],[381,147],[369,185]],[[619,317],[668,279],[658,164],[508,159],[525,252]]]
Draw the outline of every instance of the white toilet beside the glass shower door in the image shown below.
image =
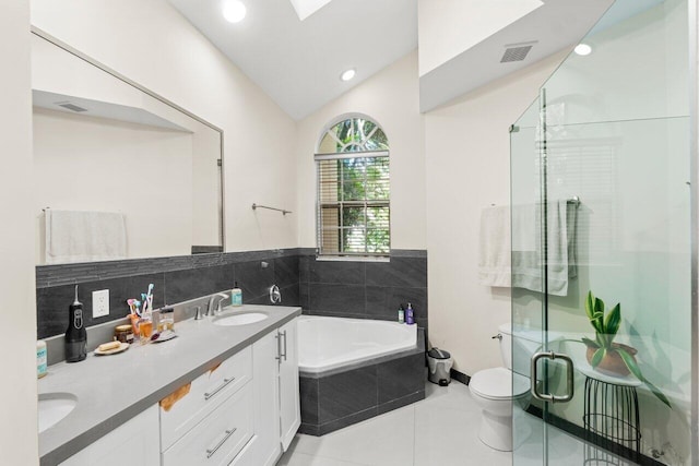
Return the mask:
[[540,332],[518,331],[517,337],[512,338],[512,326],[509,323],[500,325],[498,331],[494,338],[500,340],[505,367],[476,372],[469,382],[469,389],[483,411],[478,432],[481,441],[491,449],[511,452],[512,414],[518,409],[526,409],[531,401],[530,379],[522,373],[528,373],[530,358],[541,348],[542,343]]

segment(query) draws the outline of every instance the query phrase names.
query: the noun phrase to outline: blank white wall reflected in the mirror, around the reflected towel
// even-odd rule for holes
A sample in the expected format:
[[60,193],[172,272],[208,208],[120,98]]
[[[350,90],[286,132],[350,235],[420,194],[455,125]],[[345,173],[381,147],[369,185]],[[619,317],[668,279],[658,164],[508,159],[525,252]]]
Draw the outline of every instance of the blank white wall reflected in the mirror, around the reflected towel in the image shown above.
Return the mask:
[[129,258],[191,253],[192,158],[188,132],[35,108],[37,264],[46,206],[123,214]]

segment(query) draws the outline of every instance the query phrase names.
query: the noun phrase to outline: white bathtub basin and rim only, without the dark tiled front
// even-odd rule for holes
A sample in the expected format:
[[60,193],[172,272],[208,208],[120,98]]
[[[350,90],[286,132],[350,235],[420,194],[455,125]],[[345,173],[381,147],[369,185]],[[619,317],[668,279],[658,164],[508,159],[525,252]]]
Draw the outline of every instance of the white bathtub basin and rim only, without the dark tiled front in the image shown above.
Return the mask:
[[323,372],[414,348],[417,325],[364,319],[301,315],[298,369]]

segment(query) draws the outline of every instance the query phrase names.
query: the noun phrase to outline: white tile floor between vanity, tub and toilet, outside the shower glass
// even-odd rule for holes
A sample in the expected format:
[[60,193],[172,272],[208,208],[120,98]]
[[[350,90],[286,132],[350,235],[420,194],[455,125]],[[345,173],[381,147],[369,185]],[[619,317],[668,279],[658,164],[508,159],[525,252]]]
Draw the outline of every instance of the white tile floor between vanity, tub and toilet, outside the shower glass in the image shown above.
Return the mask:
[[469,387],[426,383],[426,398],[323,437],[297,434],[277,466],[511,465],[477,437]]

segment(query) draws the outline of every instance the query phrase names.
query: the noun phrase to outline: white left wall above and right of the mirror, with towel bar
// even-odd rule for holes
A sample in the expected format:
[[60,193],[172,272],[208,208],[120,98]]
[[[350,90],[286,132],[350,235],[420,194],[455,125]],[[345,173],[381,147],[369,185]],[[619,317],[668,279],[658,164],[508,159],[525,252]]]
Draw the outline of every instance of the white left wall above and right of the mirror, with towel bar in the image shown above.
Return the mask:
[[32,2],[32,24],[222,128],[226,249],[296,247],[294,121],[166,0]]

